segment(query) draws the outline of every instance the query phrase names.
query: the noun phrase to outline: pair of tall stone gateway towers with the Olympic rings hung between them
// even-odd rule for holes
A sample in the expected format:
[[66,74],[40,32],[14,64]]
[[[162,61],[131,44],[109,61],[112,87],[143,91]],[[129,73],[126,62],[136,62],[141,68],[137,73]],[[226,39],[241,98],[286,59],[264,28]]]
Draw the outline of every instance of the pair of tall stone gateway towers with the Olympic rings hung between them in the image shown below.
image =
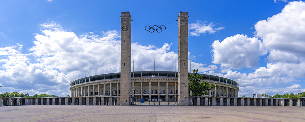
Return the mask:
[[[121,12],[120,105],[131,105],[131,15]],[[188,12],[178,15],[178,102],[188,106]]]

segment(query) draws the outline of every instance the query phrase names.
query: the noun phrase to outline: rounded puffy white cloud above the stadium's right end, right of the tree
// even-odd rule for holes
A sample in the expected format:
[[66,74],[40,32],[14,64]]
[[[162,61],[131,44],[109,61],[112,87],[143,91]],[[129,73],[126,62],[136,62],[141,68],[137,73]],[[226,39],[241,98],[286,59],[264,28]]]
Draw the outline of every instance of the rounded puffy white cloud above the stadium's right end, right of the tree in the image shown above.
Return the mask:
[[227,37],[221,42],[214,41],[212,52],[214,64],[233,69],[255,68],[259,64],[259,57],[267,53],[260,40],[240,34]]

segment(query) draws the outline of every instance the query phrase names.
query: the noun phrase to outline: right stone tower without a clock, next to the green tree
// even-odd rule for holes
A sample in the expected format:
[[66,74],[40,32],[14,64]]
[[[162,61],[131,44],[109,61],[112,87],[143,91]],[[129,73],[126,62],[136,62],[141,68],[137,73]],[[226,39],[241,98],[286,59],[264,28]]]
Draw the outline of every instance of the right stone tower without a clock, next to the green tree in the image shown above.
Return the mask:
[[178,16],[178,105],[188,106],[188,12]]

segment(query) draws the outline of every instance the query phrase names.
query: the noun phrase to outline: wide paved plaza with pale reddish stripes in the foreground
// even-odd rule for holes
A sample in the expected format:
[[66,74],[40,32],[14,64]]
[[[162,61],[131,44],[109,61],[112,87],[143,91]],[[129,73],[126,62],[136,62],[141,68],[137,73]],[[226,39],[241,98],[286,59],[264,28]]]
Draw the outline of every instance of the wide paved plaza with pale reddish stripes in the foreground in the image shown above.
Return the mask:
[[305,121],[300,106],[2,106],[0,121]]

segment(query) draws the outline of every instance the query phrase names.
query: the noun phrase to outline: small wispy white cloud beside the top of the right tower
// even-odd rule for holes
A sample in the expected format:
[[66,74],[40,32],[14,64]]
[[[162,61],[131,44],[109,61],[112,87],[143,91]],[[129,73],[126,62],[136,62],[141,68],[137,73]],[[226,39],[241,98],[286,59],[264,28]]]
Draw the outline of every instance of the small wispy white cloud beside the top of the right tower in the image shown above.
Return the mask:
[[205,33],[215,33],[216,31],[219,31],[221,29],[224,29],[223,26],[219,26],[218,23],[206,23],[206,22],[201,22],[198,21],[196,23],[189,23],[188,24],[188,34],[190,36],[200,36],[200,34],[205,34]]

